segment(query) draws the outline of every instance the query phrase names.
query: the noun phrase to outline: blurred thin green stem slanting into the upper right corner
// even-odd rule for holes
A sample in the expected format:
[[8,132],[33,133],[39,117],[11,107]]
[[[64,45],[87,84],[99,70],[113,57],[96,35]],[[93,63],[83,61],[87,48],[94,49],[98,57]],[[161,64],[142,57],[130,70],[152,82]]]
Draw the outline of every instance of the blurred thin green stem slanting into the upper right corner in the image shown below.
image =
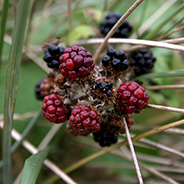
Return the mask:
[[184,8],[182,3],[170,16],[163,20],[152,32],[150,32],[145,39],[150,40],[156,33],[158,33],[173,17],[175,17]]

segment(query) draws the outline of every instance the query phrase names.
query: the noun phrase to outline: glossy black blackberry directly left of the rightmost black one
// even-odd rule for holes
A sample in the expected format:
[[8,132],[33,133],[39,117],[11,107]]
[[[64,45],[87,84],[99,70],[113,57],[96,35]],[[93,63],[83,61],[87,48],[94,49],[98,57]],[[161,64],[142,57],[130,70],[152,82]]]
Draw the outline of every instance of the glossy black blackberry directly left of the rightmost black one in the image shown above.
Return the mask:
[[102,65],[110,76],[119,76],[128,68],[128,61],[123,51],[109,48],[107,55],[102,59]]

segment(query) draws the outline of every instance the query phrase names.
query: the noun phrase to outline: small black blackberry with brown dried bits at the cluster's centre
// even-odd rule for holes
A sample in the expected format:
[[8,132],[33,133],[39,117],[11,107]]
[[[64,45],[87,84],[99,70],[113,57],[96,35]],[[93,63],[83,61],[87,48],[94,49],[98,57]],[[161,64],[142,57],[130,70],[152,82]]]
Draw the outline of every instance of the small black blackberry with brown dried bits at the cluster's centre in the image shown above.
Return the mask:
[[110,80],[106,78],[95,80],[92,83],[90,90],[91,90],[91,95],[94,98],[98,98],[105,102],[108,102],[109,100],[113,100],[115,97],[113,84],[110,82]]

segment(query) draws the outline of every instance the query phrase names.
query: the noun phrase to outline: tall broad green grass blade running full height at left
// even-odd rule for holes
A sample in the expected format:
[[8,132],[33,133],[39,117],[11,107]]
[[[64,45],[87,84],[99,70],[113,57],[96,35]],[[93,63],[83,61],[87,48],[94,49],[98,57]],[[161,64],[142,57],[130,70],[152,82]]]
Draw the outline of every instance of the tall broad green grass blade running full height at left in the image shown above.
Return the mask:
[[6,78],[6,94],[4,104],[3,128],[3,182],[11,184],[11,129],[13,112],[18,83],[18,71],[22,56],[23,41],[26,32],[27,20],[31,8],[31,1],[19,1],[18,13],[13,30],[13,41],[9,56],[9,65]]

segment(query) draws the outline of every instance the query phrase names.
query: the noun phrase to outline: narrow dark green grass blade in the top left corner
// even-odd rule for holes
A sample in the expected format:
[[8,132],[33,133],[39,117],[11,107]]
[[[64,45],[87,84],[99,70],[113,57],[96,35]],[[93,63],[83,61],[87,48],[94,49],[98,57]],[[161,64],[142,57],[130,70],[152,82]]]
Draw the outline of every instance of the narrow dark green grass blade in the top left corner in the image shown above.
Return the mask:
[[3,9],[2,9],[2,18],[1,18],[1,27],[0,27],[0,65],[2,60],[2,51],[3,51],[3,38],[6,28],[6,19],[8,14],[9,0],[4,0]]

